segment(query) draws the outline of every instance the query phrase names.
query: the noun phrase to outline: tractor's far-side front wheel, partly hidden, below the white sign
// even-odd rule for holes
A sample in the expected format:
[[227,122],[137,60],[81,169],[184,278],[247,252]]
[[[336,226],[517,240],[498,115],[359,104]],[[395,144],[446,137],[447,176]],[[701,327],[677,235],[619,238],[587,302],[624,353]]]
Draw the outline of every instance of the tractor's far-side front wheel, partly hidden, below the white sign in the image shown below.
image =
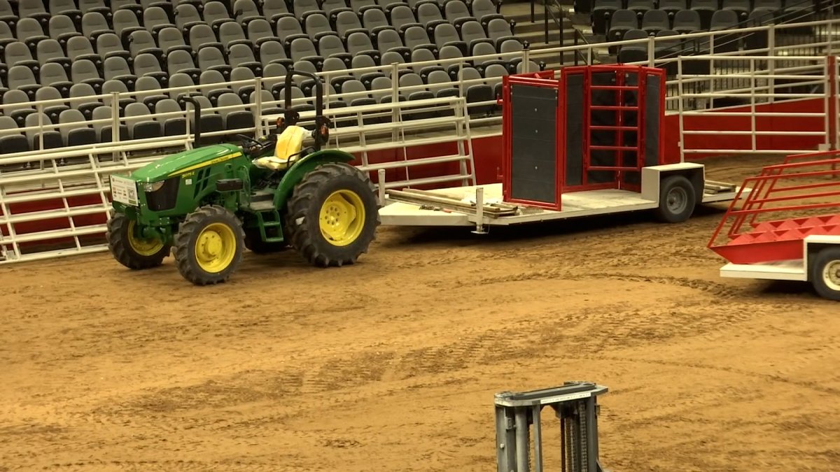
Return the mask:
[[[163,260],[170,254],[169,244],[160,241],[134,241],[134,220],[123,213],[117,213],[108,219],[108,250],[120,264],[132,270],[151,269],[163,264]],[[138,244],[149,244],[147,247]],[[145,249],[145,250],[144,250]]]

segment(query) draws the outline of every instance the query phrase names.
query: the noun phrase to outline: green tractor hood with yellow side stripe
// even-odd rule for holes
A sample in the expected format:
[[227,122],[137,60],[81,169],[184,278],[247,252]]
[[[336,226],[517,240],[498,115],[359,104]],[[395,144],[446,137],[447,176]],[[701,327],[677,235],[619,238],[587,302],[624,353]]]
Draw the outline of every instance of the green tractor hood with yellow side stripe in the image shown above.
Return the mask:
[[201,169],[205,165],[218,164],[242,155],[242,149],[234,144],[214,144],[203,148],[183,151],[155,160],[134,170],[131,177],[140,182],[162,181],[172,176],[179,176],[191,170]]

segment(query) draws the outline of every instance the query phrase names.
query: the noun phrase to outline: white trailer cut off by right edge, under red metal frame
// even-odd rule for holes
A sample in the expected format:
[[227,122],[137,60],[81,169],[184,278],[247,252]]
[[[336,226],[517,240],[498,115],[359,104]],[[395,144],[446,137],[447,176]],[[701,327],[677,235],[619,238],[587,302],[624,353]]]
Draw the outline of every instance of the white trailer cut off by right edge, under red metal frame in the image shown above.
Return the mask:
[[733,279],[810,281],[816,292],[840,301],[840,236],[812,234],[802,239],[803,259],[761,264],[727,264],[721,276]]

